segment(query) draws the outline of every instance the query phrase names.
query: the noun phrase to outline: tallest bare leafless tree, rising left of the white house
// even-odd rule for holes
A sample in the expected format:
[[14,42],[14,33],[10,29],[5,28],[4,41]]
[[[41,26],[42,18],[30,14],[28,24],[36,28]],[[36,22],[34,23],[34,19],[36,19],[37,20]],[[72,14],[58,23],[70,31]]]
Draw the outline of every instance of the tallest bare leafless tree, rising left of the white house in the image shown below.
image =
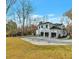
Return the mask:
[[22,32],[24,34],[25,22],[26,24],[28,24],[27,22],[31,24],[30,14],[32,13],[32,6],[30,0],[20,0],[19,2],[21,7],[17,8],[17,15],[20,22],[22,23]]

